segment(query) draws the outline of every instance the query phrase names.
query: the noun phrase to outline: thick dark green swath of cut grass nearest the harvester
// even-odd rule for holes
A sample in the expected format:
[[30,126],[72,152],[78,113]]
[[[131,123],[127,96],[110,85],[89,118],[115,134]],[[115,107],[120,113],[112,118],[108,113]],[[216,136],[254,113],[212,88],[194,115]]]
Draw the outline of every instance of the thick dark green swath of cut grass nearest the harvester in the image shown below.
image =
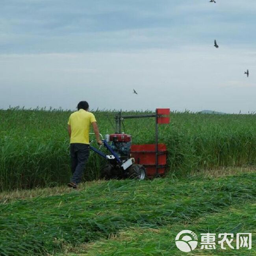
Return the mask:
[[86,191],[2,203],[0,254],[54,254],[67,245],[107,239],[120,230],[157,230],[179,223],[183,227],[206,214],[255,200],[255,179],[256,173],[111,180],[91,184]]

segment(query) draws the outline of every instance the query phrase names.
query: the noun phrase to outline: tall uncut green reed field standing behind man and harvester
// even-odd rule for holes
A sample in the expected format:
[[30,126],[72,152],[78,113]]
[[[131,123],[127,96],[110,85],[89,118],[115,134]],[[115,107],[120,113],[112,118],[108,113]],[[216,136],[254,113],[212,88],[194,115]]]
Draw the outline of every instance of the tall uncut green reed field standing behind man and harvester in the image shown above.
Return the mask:
[[[0,191],[56,186],[69,180],[67,121],[70,113],[43,109],[0,110]],[[114,124],[115,111],[93,113],[100,133],[114,132],[111,122]],[[255,115],[171,113],[171,123],[161,125],[159,130],[160,142],[168,148],[168,170],[176,176],[220,167],[255,165]],[[133,136],[135,144],[154,143],[154,119],[126,120],[125,132]],[[85,180],[97,179],[104,162],[91,152]]]

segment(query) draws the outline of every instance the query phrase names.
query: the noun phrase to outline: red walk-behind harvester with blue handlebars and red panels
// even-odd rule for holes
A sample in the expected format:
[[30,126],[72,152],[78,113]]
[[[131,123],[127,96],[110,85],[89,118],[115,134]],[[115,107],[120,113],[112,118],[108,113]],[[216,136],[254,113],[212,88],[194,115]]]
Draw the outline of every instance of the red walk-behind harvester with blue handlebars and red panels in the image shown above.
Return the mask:
[[[155,144],[132,145],[132,136],[121,132],[121,122],[124,119],[154,117],[156,122]],[[115,134],[106,135],[103,145],[109,155],[90,146],[90,149],[108,160],[101,170],[101,178],[136,178],[156,177],[166,171],[166,145],[158,144],[158,124],[170,122],[170,109],[158,108],[150,115],[115,115]]]

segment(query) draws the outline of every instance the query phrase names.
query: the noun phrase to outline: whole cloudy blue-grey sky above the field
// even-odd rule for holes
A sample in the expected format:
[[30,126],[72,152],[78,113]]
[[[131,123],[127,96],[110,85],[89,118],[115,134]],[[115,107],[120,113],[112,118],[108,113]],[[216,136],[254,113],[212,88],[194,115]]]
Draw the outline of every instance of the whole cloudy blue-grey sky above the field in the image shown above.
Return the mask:
[[216,2],[1,0],[0,108],[256,111],[256,2]]

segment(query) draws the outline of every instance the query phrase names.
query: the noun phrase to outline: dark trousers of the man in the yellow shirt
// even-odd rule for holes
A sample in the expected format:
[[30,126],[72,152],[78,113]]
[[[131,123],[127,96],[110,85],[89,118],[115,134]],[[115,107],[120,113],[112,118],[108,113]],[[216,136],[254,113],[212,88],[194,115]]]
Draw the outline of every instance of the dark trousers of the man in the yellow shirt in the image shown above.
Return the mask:
[[78,184],[82,180],[85,162],[89,157],[89,145],[83,143],[71,143],[70,155],[72,170],[71,182]]

